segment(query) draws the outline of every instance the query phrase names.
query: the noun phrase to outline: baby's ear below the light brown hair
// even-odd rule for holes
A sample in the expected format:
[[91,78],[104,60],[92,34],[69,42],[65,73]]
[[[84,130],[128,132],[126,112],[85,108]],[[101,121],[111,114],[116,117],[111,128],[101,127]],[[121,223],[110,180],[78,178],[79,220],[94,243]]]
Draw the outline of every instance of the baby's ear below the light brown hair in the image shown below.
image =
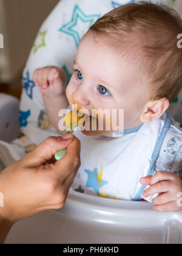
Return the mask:
[[146,103],[143,113],[141,113],[140,121],[142,123],[150,123],[153,120],[160,118],[163,113],[169,108],[169,99],[162,98],[157,101],[149,101]]

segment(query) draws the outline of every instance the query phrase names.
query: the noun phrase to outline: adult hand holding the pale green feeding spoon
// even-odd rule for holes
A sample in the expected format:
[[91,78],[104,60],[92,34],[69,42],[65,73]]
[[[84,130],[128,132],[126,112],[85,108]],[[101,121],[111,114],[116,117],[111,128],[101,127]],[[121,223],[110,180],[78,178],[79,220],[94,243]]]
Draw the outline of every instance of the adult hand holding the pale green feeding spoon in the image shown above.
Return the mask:
[[[66,156],[55,162],[53,155],[65,148]],[[0,225],[1,219],[13,224],[44,210],[61,208],[80,166],[79,153],[79,141],[72,133],[50,137],[1,172],[4,207],[0,207]]]

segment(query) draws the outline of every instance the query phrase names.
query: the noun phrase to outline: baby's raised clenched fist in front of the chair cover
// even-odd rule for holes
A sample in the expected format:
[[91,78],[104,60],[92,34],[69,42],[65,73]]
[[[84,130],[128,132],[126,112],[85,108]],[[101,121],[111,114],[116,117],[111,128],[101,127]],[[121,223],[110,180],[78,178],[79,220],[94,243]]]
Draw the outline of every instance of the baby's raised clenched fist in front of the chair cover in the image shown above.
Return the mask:
[[56,66],[38,68],[33,73],[33,82],[44,96],[55,98],[66,90],[66,73]]

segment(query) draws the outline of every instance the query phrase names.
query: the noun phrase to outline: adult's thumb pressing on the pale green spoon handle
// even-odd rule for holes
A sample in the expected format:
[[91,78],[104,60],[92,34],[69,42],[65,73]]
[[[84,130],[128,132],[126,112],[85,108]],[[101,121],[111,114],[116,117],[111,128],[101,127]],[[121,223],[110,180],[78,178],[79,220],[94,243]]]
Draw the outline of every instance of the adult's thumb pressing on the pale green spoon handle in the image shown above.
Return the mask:
[[32,151],[29,157],[33,158],[32,160],[35,165],[43,165],[52,159],[57,151],[66,149],[72,140],[72,133],[67,134],[66,139],[62,137],[49,137]]

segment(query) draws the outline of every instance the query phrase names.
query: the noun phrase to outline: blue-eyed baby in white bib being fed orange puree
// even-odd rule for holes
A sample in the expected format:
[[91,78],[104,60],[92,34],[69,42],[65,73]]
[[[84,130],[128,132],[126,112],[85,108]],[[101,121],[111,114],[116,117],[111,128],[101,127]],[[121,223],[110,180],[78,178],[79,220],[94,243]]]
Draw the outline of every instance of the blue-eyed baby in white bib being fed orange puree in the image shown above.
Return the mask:
[[74,131],[81,141],[81,168],[73,190],[146,199],[158,212],[182,210],[182,131],[167,111],[182,85],[181,32],[182,21],[167,7],[123,5],[81,40],[67,88],[62,69],[36,69],[33,80],[61,135],[58,112],[69,105],[90,116],[93,109],[124,110],[124,132],[116,137],[112,129]]

